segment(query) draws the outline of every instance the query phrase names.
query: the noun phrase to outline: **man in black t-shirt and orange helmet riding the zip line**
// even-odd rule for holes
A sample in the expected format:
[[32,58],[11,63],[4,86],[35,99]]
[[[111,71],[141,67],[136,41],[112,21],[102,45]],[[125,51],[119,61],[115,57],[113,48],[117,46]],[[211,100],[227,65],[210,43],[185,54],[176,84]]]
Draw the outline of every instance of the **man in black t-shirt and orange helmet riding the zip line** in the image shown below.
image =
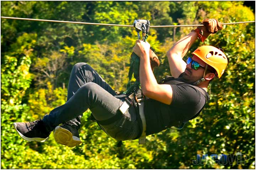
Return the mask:
[[[70,75],[67,102],[42,120],[14,123],[16,131],[25,140],[44,142],[54,130],[56,142],[74,147],[81,143],[80,118],[88,108],[101,129],[120,141],[137,139],[144,130],[151,135],[191,120],[209,100],[210,81],[217,75],[220,78],[228,63],[225,54],[213,46],[199,47],[187,62],[182,60],[197,38],[204,41],[210,33],[222,29],[216,19],[205,19],[203,24],[167,52],[172,77],[161,84],[150,67],[150,44],[136,41],[133,51],[140,57],[140,84],[144,96],[149,98],[144,101],[143,116],[127,95],[117,95],[88,64],[78,63]],[[127,105],[129,102],[132,104]]]

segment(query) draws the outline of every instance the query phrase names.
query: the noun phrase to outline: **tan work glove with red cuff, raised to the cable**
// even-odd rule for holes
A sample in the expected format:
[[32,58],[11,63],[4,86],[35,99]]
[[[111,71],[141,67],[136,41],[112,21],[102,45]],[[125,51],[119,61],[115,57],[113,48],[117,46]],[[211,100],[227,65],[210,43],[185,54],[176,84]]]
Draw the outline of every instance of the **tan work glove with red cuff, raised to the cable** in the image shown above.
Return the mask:
[[221,30],[222,23],[218,22],[217,19],[204,19],[203,22],[201,22],[204,26],[197,27],[196,30],[194,30],[198,38],[204,42],[204,40],[210,35],[210,34],[215,34],[217,33],[218,30]]

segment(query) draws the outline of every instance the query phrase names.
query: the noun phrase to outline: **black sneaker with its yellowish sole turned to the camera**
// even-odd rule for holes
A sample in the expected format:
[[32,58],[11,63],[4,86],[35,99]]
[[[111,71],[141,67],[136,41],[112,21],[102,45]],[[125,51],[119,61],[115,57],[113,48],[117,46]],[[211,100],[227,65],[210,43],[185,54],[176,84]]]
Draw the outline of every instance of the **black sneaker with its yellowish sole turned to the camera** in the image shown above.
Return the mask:
[[70,148],[82,143],[79,132],[73,125],[63,124],[62,126],[57,126],[53,135],[57,143]]

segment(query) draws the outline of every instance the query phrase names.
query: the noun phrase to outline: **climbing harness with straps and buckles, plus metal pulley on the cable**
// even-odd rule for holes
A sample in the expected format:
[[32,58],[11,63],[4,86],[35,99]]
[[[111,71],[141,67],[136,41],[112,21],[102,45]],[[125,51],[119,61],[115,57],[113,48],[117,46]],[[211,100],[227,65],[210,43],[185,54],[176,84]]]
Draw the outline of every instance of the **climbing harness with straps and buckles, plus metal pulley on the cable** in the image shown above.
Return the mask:
[[[140,39],[139,32],[142,31],[142,40],[146,41],[148,38],[149,33],[149,21],[144,19],[135,20],[133,23],[134,28],[136,29],[138,39]],[[94,116],[91,114],[91,120],[97,122],[97,124],[101,127],[101,125],[107,125],[111,124],[114,121],[122,118],[123,114],[126,113],[126,111],[129,109],[129,107],[132,105],[136,110],[136,117],[139,117],[142,121],[142,134],[139,137],[139,144],[145,145],[146,144],[146,119],[144,115],[144,100],[145,97],[142,93],[142,90],[140,88],[140,82],[139,82],[139,64],[140,64],[140,58],[132,52],[131,54],[131,64],[130,64],[130,70],[129,70],[129,82],[127,84],[127,90],[123,92],[122,94],[119,94],[120,98],[124,98],[123,104],[119,107],[119,111],[114,117],[98,121],[94,118]],[[132,75],[134,75],[134,78],[136,79],[135,83],[131,85],[130,80],[132,79]],[[101,129],[107,133],[102,127]],[[122,145],[122,141],[118,141],[117,146],[120,147]]]

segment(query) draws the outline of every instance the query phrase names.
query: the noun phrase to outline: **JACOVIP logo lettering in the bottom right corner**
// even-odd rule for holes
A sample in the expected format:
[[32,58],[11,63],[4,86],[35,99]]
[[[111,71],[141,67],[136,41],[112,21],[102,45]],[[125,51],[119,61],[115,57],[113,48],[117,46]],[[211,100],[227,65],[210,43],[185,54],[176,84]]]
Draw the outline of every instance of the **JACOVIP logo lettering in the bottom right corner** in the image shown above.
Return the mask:
[[244,165],[246,160],[249,160],[250,156],[237,152],[236,154],[197,154],[196,160],[192,160],[193,165],[210,165],[210,164],[219,164],[219,165]]

